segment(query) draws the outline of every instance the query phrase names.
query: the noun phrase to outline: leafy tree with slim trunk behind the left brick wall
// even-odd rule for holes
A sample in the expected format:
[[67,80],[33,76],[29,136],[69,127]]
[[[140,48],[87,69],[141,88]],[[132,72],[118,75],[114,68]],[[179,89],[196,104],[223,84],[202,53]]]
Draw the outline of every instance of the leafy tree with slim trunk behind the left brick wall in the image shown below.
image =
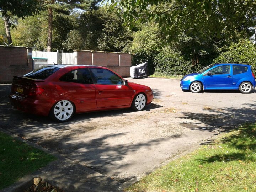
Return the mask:
[[8,44],[12,44],[10,27],[13,23],[10,23],[12,15],[18,18],[24,19],[25,17],[38,14],[42,9],[41,0],[0,0],[0,12],[5,22],[5,31],[8,39]]

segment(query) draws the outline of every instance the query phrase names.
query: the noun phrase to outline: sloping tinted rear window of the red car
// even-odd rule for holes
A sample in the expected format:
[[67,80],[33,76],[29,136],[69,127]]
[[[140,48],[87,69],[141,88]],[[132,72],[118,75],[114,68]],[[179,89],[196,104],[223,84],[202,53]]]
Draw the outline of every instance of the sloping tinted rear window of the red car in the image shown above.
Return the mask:
[[31,71],[30,73],[27,73],[26,75],[23,75],[23,77],[28,77],[28,78],[32,78],[32,79],[46,79],[50,75],[52,75],[56,71],[58,71],[59,69],[60,68],[58,68],[58,67],[43,66],[41,68]]

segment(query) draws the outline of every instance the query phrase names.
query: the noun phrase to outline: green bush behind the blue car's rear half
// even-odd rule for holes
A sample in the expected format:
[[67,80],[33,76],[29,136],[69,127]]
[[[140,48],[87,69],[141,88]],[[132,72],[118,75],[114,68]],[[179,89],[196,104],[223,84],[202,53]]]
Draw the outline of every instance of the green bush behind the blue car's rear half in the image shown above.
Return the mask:
[[238,43],[231,44],[226,52],[214,59],[214,63],[247,64],[256,71],[256,47],[251,41],[240,39]]

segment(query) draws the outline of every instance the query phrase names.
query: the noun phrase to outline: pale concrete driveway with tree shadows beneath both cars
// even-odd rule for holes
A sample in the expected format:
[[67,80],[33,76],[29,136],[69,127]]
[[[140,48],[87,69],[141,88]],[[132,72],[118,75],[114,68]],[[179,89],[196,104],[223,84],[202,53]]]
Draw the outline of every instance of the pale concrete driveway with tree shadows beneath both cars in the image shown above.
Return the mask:
[[144,111],[84,113],[66,123],[13,110],[7,97],[11,85],[0,85],[0,127],[125,182],[224,129],[255,122],[255,90],[192,94],[176,79],[126,79],[152,88],[153,103]]

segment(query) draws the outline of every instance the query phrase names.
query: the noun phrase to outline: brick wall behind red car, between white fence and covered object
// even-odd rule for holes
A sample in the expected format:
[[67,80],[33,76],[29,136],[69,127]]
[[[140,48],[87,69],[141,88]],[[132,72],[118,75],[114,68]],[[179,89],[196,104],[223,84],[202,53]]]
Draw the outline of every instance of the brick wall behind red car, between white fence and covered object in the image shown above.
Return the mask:
[[132,54],[101,51],[74,50],[76,64],[105,66],[122,77],[130,76]]

